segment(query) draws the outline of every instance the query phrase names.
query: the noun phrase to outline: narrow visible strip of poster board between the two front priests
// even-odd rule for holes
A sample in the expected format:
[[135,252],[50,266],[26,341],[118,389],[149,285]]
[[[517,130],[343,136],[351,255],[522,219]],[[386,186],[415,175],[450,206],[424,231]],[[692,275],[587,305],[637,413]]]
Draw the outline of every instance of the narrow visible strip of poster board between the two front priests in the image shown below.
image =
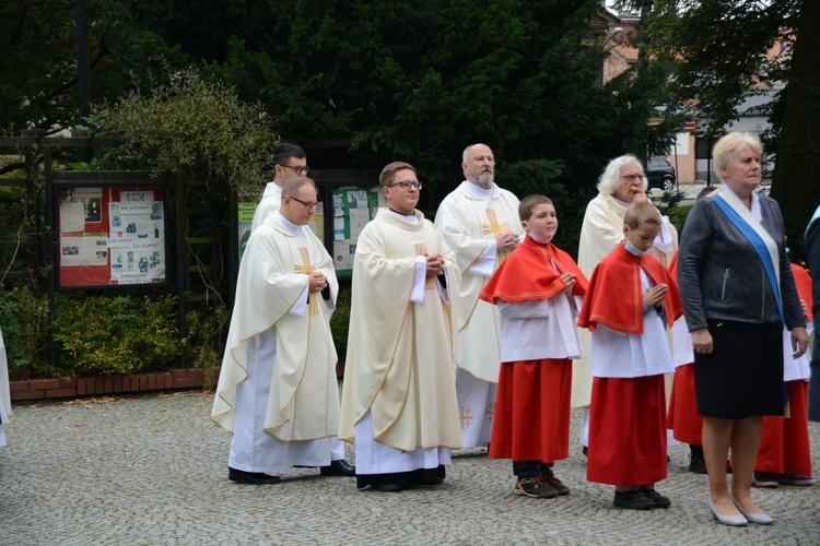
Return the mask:
[[356,241],[364,226],[376,216],[379,206],[387,206],[378,186],[333,188],[333,257],[336,273],[353,274]]

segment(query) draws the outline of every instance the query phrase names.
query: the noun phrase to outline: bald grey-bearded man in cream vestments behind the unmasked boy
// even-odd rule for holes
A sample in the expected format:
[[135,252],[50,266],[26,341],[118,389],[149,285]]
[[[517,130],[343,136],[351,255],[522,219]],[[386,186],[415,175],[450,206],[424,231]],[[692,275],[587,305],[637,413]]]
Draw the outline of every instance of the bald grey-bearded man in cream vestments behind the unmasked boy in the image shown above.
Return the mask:
[[435,226],[461,272],[456,390],[464,447],[476,448],[490,443],[501,367],[501,317],[479,294],[523,232],[518,198],[494,182],[490,146],[467,146],[461,168],[466,180],[442,201]]

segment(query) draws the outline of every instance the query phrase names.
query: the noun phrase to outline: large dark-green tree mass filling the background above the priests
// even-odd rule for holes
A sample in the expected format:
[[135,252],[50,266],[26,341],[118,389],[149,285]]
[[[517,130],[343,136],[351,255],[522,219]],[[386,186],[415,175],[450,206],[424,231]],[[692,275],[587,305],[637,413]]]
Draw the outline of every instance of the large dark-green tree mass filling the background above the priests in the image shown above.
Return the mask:
[[[607,159],[659,152],[667,134],[647,123],[666,103],[661,70],[596,85],[598,0],[87,2],[92,110],[206,64],[206,78],[265,104],[286,139],[348,142],[337,159],[351,166],[412,162],[431,206],[470,142],[493,146],[502,177],[536,161],[534,182],[591,191]],[[0,5],[12,52],[0,126],[75,123],[73,1]]]

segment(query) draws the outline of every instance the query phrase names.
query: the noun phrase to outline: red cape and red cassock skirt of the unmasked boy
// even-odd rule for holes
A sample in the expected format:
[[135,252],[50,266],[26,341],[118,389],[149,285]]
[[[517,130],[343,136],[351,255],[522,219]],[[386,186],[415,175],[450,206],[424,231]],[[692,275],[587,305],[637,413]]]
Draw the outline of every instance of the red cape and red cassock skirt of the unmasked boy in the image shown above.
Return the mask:
[[[583,296],[588,283],[572,257],[552,244],[526,237],[488,281],[480,297],[490,304],[557,297],[566,288],[563,273],[575,275],[572,294]],[[569,358],[502,363],[490,458],[548,464],[566,459],[571,390]]]

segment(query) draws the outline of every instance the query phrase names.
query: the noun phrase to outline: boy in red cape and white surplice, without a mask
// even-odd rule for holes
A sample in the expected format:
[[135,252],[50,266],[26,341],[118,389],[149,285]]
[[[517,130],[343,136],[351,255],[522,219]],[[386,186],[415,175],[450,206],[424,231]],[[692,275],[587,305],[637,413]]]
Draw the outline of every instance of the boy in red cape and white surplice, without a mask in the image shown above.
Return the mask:
[[501,370],[491,459],[512,459],[513,491],[536,498],[569,495],[552,466],[570,453],[572,359],[581,357],[575,327],[587,280],[552,245],[552,201],[528,195],[518,206],[527,236],[482,289],[501,313]]

